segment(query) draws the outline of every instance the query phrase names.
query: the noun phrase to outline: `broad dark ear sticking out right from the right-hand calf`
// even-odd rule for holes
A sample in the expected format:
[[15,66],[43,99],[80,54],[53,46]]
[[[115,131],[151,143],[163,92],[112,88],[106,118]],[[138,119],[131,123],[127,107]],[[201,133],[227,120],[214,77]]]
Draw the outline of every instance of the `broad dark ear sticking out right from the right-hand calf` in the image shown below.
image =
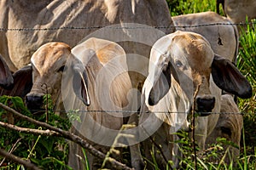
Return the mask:
[[224,59],[215,54],[212,61],[212,78],[218,88],[230,94],[236,94],[242,99],[252,97],[253,90],[241,72],[233,65],[230,60]]

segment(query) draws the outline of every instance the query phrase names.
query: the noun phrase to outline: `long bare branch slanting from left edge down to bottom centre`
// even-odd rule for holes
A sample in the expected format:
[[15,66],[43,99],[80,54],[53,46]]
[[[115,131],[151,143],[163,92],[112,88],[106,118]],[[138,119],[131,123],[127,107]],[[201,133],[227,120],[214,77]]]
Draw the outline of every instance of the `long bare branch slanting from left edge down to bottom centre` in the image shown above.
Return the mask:
[[[27,122],[32,122],[33,124],[39,125],[41,127],[45,127],[48,128],[49,130],[55,131],[57,133],[60,133],[64,138],[66,139],[70,139],[73,142],[79,144],[80,146],[84,147],[85,150],[88,150],[93,156],[96,156],[98,158],[101,158],[102,160],[105,159],[106,155],[103,154],[102,152],[100,152],[99,150],[96,150],[96,148],[94,148],[92,145],[88,144],[84,139],[80,138],[79,136],[70,133],[68,131],[62,130],[61,128],[58,127],[53,127],[50,126],[49,124],[45,123],[45,122],[39,122],[36,121],[28,116],[24,116],[22,114],[20,114],[18,111],[13,110],[12,108],[9,108],[6,105],[3,105],[2,103],[0,103],[0,107],[2,107],[4,110],[6,111],[10,111],[11,113],[13,113],[15,116],[20,116],[22,119],[26,120]],[[113,167],[117,168],[117,169],[129,169],[131,170],[131,167],[127,167],[125,164],[116,161],[115,159],[111,158],[108,160]]]

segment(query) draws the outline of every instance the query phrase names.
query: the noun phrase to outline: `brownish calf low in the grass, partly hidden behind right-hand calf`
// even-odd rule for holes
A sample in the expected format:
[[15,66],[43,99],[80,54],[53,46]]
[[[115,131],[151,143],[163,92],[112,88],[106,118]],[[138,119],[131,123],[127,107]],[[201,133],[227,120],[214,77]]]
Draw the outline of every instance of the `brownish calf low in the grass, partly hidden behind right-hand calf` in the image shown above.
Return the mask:
[[[230,94],[221,96],[220,115],[216,127],[207,137],[207,144],[216,144],[217,138],[225,138],[235,144],[224,144],[224,154],[220,155],[220,159],[224,156],[224,161],[230,164],[236,162],[236,158],[240,153],[241,128],[243,126],[242,116],[234,101],[234,97]],[[219,160],[220,160],[219,159]],[[219,161],[218,160],[218,161]]]

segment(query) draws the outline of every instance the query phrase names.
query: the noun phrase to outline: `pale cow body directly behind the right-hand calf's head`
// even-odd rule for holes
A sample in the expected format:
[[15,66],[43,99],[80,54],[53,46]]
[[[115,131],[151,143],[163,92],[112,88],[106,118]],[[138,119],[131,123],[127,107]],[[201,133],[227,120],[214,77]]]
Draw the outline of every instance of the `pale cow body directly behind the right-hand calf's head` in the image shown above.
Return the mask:
[[172,20],[177,30],[201,34],[215,54],[236,62],[239,34],[235,25],[229,25],[231,20],[211,11],[173,16]]

